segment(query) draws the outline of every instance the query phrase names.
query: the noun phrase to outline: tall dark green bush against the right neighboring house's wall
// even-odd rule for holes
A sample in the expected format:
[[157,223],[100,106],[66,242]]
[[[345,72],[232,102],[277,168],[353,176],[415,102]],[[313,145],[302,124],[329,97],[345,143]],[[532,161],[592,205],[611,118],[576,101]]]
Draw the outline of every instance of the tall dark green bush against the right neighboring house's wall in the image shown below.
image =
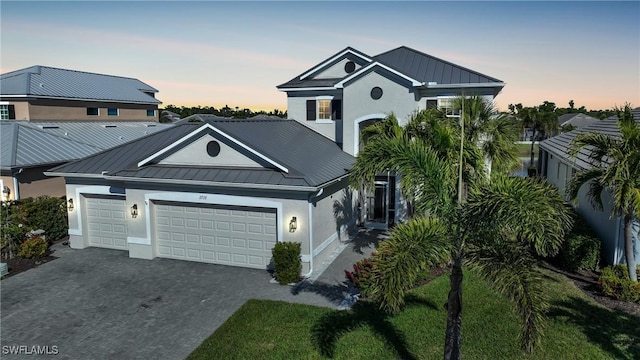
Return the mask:
[[564,238],[556,263],[568,271],[594,271],[600,263],[600,246],[595,232],[575,213],[573,228]]

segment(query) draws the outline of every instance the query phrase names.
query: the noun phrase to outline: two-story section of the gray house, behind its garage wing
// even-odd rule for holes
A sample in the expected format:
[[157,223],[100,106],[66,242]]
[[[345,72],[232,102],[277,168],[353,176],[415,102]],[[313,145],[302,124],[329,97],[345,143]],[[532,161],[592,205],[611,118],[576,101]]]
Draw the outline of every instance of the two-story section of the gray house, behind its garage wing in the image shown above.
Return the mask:
[[[362,129],[390,113],[401,125],[429,107],[457,117],[456,97],[493,100],[504,86],[491,76],[403,46],[376,56],[348,47],[278,89],[287,93],[290,118],[356,156]],[[380,174],[375,190],[363,195],[361,221],[366,225],[385,228],[404,218],[404,200],[393,174]]]

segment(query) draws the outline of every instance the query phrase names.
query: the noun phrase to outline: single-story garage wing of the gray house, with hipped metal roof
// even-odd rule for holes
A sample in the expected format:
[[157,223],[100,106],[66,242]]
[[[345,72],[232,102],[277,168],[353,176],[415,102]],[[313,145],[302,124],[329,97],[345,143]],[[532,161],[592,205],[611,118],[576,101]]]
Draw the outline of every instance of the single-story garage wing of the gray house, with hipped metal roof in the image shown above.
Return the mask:
[[73,248],[265,269],[293,241],[310,274],[355,225],[354,161],[294,120],[194,115],[46,174],[66,180]]

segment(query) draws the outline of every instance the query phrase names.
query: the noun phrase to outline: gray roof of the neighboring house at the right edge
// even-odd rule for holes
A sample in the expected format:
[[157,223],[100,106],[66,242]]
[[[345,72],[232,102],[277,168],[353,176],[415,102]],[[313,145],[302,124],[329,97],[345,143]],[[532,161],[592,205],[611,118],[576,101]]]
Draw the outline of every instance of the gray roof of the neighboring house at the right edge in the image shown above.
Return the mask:
[[[632,111],[636,122],[640,123],[640,107],[633,109]],[[573,164],[574,168],[578,170],[584,170],[591,167],[589,163],[590,150],[588,148],[582,148],[575,159],[569,156],[569,145],[571,141],[578,135],[588,132],[598,132],[605,135],[619,137],[620,130],[618,128],[618,118],[616,116],[609,117],[604,120],[599,120],[591,125],[560,134],[558,136],[551,137],[540,142],[540,148],[559,157],[564,162]]]

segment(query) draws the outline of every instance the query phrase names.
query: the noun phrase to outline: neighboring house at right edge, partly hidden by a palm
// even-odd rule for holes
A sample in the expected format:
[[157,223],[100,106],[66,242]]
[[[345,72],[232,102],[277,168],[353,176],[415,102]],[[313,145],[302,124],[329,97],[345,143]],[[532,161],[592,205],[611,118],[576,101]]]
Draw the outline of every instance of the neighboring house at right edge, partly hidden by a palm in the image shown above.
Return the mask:
[[[640,108],[633,110],[633,116],[640,122]],[[599,132],[619,136],[617,117],[598,120],[591,125],[554,136],[540,142],[539,173],[547,181],[556,185],[561,193],[566,191],[571,177],[580,170],[590,167],[589,151],[582,149],[574,158],[569,156],[569,144],[576,135],[586,132]],[[624,223],[620,217],[611,218],[611,193],[603,193],[603,211],[595,210],[587,196],[589,186],[582,187],[578,194],[577,210],[587,220],[602,240],[602,256],[609,264],[624,263]],[[640,224],[634,224],[635,257],[640,259]]]

